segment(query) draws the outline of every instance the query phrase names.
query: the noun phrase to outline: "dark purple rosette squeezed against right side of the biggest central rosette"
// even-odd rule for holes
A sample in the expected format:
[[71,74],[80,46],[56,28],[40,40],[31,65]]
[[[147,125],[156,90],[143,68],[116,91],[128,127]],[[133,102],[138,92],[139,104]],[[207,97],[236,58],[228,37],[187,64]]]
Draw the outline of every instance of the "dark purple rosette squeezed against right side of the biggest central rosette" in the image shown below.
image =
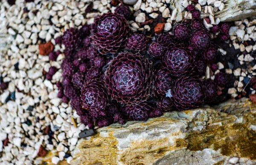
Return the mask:
[[166,92],[172,88],[171,73],[165,67],[160,67],[154,71],[154,96],[165,96]]

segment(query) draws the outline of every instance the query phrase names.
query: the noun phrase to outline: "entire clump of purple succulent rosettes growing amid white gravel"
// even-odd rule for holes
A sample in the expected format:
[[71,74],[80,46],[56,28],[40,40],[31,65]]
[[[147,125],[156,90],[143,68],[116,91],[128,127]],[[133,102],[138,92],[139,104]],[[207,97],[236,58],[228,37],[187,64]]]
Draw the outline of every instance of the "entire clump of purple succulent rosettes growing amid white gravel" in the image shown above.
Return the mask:
[[[154,39],[131,33],[128,19],[132,14],[122,4],[114,13],[95,18],[92,25],[64,32],[56,38],[56,43],[65,46],[63,79],[56,84],[58,97],[64,103],[71,100],[89,128],[147,120],[172,109],[215,101],[217,87],[226,85],[227,75],[218,73],[214,81],[202,80],[207,65],[214,68],[218,55],[210,32],[226,34],[229,26],[214,26],[209,31],[194,6],[187,10],[194,17],[190,23],[179,23],[172,34]],[[57,54],[52,53],[51,60]],[[50,68],[47,74],[55,72]]]

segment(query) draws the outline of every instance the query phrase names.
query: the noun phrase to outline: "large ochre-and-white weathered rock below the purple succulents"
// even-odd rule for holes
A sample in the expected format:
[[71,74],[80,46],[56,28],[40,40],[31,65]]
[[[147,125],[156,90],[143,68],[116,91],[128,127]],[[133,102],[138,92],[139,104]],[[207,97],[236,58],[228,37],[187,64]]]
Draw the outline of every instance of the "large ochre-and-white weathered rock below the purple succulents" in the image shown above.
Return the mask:
[[79,141],[71,164],[227,165],[238,157],[239,165],[256,165],[255,128],[256,106],[246,98],[215,109],[169,112],[97,129]]

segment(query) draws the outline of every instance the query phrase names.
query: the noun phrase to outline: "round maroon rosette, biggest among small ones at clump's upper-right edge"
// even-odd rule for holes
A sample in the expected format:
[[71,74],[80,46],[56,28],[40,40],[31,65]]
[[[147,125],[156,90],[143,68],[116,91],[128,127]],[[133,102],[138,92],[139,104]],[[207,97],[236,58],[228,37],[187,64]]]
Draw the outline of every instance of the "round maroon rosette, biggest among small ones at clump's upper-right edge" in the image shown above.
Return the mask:
[[197,50],[204,50],[209,47],[211,37],[207,30],[199,30],[192,33],[190,42]]

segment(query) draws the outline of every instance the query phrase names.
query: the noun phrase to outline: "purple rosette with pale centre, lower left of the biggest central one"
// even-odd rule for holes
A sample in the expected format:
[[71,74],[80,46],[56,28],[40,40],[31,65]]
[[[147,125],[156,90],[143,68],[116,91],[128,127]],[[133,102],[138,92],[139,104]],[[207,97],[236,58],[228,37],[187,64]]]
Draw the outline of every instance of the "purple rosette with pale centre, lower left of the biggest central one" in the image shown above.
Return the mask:
[[109,102],[109,95],[104,82],[99,79],[86,82],[81,89],[81,99],[84,108],[88,108],[92,112],[97,113],[105,109]]

